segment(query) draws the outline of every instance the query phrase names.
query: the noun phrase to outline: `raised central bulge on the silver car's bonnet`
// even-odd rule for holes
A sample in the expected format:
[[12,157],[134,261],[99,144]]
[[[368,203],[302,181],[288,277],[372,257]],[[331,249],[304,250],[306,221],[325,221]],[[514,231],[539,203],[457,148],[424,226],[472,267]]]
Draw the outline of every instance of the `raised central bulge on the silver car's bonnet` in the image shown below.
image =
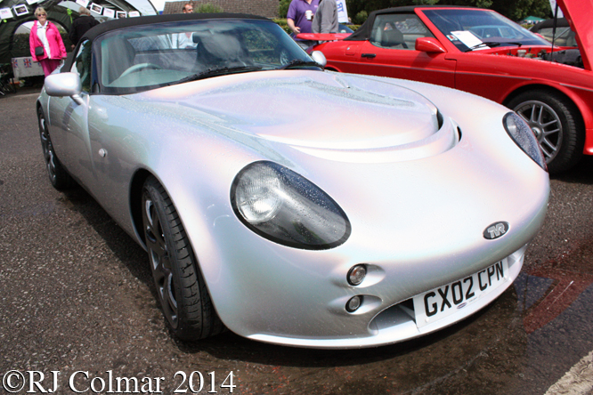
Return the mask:
[[[299,149],[380,150],[423,156],[451,148],[435,105],[402,86],[368,77],[278,70],[214,77],[131,98],[224,133],[242,133]],[[435,144],[435,141],[439,141]],[[418,157],[418,155],[416,156]]]

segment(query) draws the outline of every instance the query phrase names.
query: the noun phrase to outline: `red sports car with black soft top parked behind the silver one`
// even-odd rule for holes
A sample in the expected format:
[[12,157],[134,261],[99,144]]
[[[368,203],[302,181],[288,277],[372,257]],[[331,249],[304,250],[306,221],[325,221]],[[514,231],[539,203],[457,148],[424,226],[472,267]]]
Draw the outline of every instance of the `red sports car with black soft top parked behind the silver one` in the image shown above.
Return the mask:
[[310,51],[329,70],[449,86],[515,109],[559,173],[593,155],[593,0],[558,4],[579,49],[552,49],[491,10],[423,5],[371,12],[351,36]]

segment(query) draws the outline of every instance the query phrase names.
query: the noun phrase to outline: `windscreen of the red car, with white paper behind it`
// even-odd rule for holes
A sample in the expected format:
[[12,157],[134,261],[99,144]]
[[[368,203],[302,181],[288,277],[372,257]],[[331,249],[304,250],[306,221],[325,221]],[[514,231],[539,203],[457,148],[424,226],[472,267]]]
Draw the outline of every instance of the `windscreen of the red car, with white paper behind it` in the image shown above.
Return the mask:
[[491,46],[548,45],[543,38],[498,12],[475,9],[422,12],[462,52],[488,49]]

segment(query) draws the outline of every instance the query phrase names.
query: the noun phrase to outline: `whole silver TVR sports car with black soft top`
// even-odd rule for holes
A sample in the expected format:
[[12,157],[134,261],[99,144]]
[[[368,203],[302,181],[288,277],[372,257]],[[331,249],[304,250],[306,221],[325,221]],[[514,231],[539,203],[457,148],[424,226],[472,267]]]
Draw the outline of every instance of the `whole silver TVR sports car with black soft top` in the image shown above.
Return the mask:
[[50,181],[77,181],[147,250],[181,339],[426,335],[499,296],[544,221],[548,173],[521,117],[325,72],[270,20],[114,20],[74,54],[37,101]]

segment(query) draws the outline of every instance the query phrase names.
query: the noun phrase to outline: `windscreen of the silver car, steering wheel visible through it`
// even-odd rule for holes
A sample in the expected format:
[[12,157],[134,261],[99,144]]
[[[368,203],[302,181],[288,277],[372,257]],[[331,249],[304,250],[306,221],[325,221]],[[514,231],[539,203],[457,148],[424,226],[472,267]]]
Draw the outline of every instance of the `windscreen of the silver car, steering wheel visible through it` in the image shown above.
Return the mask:
[[268,20],[186,20],[113,30],[93,42],[102,93],[142,92],[159,86],[312,59]]

